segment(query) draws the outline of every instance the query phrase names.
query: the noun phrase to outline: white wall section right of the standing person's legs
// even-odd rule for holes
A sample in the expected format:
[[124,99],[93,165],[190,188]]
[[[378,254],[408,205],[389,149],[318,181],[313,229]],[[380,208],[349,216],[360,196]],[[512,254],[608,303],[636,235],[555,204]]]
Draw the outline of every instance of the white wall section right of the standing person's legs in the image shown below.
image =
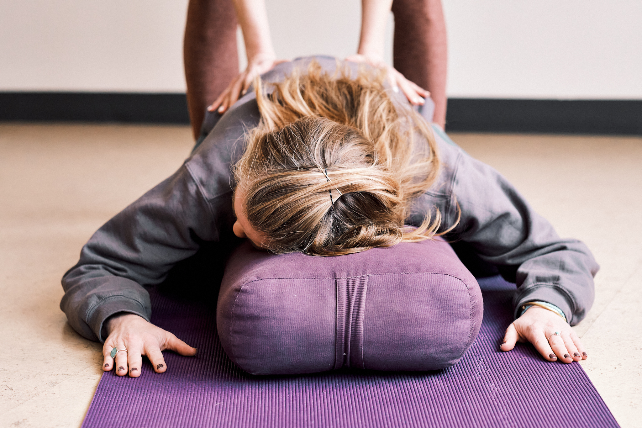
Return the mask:
[[443,0],[449,96],[642,99],[640,0]]

